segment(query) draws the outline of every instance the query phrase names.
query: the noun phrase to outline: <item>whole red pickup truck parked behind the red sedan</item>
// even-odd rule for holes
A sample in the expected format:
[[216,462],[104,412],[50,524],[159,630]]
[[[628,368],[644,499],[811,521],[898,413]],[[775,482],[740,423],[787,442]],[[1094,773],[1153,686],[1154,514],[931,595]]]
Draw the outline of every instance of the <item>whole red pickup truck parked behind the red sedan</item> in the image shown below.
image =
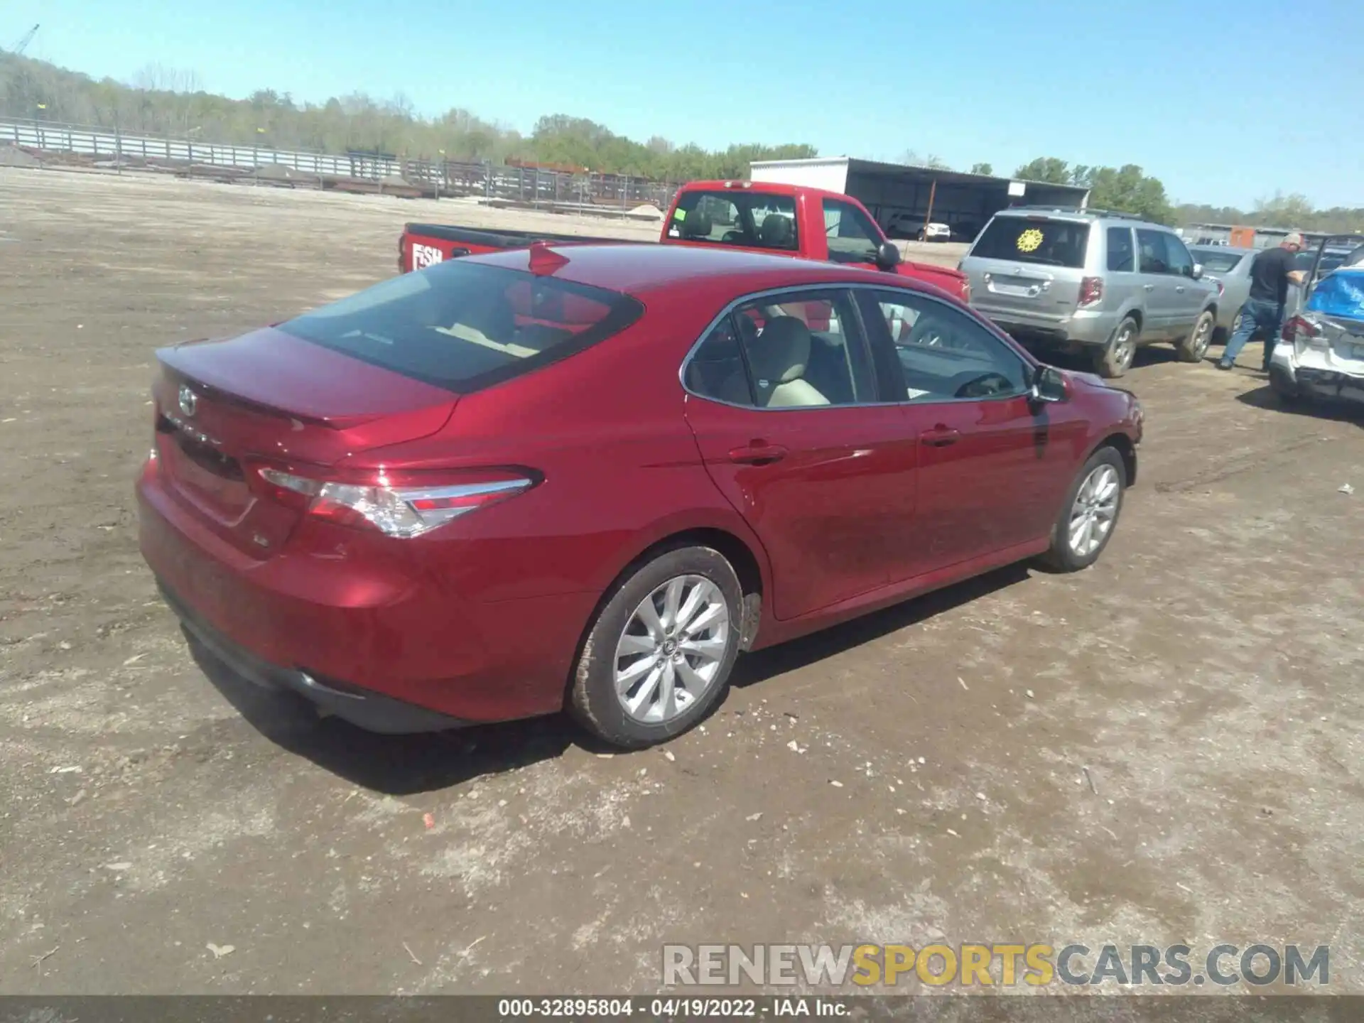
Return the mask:
[[[446,259],[522,248],[533,241],[618,244],[621,239],[408,224],[398,240],[398,270],[421,270]],[[862,203],[821,188],[765,181],[692,181],[678,190],[663,220],[659,241],[866,266],[926,281],[962,301],[971,299],[966,274],[902,259],[900,250],[885,237]]]

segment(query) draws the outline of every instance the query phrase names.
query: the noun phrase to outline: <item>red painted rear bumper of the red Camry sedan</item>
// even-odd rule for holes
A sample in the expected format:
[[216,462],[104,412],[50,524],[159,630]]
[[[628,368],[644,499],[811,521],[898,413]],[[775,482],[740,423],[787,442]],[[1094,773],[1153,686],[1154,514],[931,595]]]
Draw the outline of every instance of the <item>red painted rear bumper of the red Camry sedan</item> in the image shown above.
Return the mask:
[[[446,559],[476,543],[337,532],[254,561],[158,480],[136,486],[142,555],[172,610],[239,674],[376,731],[428,731],[554,713],[591,593],[479,600]],[[340,531],[340,527],[334,527]],[[446,548],[446,550],[442,550]],[[457,548],[457,550],[456,550]]]

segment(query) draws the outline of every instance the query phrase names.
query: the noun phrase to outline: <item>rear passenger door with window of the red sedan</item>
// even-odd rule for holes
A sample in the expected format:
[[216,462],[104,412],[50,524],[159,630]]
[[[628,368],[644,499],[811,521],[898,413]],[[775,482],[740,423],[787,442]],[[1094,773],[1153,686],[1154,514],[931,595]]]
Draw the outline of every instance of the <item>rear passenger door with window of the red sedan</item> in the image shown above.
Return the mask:
[[898,572],[918,447],[899,408],[877,404],[846,289],[738,304],[689,357],[683,381],[705,466],[767,550],[777,618]]

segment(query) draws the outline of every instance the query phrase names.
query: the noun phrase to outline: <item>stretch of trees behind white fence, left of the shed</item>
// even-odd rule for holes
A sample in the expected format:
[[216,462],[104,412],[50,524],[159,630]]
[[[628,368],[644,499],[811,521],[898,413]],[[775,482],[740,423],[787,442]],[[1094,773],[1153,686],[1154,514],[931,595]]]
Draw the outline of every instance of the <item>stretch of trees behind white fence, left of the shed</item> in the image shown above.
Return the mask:
[[150,65],[123,83],[94,80],[12,53],[0,53],[0,113],[274,149],[522,160],[660,181],[742,177],[753,160],[818,155],[814,146],[799,143],[707,150],[678,146],[662,136],[636,142],[585,117],[566,115],[540,117],[531,134],[522,135],[460,108],[421,117],[404,95],[375,100],[355,93],[312,104],[262,89],[246,100],[229,100],[205,91],[194,72],[175,68]]

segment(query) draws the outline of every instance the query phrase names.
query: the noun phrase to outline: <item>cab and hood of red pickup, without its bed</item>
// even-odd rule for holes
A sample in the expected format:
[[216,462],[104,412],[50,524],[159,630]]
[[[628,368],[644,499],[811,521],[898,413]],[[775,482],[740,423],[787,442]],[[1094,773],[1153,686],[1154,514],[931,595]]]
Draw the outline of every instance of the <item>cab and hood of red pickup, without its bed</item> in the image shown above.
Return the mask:
[[771,181],[692,181],[663,220],[663,244],[715,246],[862,266],[913,277],[971,300],[966,274],[915,263],[851,195]]

